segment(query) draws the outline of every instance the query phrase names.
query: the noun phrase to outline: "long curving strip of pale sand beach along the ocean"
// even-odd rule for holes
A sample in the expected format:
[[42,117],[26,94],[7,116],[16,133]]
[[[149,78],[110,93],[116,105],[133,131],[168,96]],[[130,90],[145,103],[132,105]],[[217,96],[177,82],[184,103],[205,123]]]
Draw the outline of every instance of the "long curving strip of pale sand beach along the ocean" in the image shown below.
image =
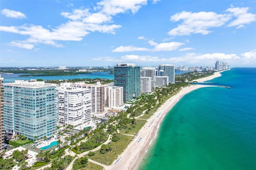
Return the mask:
[[[228,69],[230,70],[230,69]],[[223,70],[226,71],[226,70]],[[196,79],[194,81],[204,82],[216,77],[221,76],[221,72],[215,72],[214,75]],[[168,99],[159,109],[152,115],[147,123],[140,129],[138,135],[134,140],[126,147],[124,152],[119,156],[118,162],[116,160],[110,166],[105,166],[106,170],[136,170],[142,163],[146,152],[151,147],[150,144],[155,142],[155,138],[158,135],[158,128],[160,127],[165,115],[174,107],[174,105],[186,94],[202,87],[216,87],[215,85],[190,85],[182,88],[176,95]]]

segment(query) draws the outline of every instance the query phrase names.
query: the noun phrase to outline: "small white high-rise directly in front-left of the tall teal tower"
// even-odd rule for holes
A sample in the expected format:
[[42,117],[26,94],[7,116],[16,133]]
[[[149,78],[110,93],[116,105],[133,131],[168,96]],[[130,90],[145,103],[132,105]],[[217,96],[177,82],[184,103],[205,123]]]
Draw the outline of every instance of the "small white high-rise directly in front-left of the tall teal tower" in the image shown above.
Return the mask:
[[124,104],[123,87],[104,86],[105,105],[111,108],[117,108]]

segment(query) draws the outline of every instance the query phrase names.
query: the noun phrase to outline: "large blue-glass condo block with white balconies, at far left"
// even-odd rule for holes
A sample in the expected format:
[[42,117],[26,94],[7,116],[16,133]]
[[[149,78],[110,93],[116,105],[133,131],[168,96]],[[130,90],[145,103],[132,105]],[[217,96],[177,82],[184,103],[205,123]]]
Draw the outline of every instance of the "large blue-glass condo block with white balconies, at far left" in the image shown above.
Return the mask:
[[30,140],[56,132],[56,84],[16,80],[3,85],[6,132],[22,134]]

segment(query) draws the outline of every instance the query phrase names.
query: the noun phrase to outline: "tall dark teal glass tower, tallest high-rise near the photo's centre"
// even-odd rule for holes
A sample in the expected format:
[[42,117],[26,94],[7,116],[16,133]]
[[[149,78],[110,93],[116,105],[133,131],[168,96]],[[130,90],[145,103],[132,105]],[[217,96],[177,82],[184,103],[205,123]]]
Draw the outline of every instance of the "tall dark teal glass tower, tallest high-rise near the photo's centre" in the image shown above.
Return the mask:
[[140,66],[118,63],[114,66],[114,85],[123,87],[124,102],[140,97]]

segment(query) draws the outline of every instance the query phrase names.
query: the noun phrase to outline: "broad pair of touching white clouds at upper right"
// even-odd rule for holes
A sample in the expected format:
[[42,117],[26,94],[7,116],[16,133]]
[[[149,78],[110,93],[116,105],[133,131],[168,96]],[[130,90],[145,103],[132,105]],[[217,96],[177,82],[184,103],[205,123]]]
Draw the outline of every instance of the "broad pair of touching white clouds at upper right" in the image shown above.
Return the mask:
[[[187,12],[182,11],[170,17],[171,22],[181,21],[178,27],[168,32],[170,36],[188,36],[191,34],[206,35],[212,32],[210,28],[220,27],[227,24],[230,20],[229,27],[244,27],[244,24],[250,24],[256,21],[256,14],[248,13],[248,7],[244,8],[228,8],[225,14],[217,14],[215,12]],[[232,20],[233,18],[236,18]]]

